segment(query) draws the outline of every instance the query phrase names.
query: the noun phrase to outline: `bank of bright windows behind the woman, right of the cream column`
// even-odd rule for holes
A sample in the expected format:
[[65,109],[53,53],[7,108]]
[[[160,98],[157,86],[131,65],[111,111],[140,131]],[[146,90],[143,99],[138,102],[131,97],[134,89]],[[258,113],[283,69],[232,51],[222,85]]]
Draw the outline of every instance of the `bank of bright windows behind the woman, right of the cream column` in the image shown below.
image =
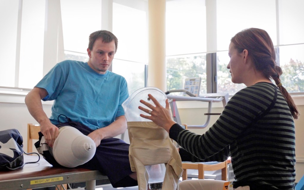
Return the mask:
[[[268,32],[279,52],[277,57],[283,70],[280,78],[284,87],[291,93],[304,92],[302,0],[174,0],[166,5],[168,90],[183,88],[186,77],[201,75],[198,68],[205,69],[202,76],[206,79],[202,79],[201,90],[205,88],[207,93],[228,92],[233,95],[245,88],[244,84],[231,82],[226,69],[228,47],[237,32],[256,27]],[[191,60],[198,53],[207,58],[200,66],[191,68]],[[216,68],[213,69],[216,72],[208,68]]]

